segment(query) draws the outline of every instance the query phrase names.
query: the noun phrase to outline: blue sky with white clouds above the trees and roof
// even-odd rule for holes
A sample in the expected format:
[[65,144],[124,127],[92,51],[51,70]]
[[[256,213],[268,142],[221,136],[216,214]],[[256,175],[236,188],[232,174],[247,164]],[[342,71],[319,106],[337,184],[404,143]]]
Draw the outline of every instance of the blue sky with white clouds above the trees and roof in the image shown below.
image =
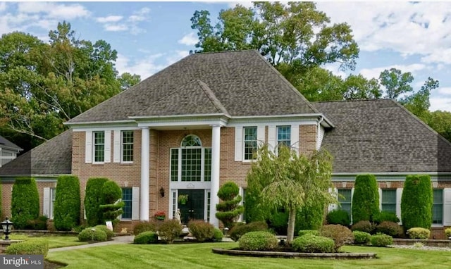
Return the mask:
[[[0,2],[0,35],[27,32],[48,41],[66,20],[79,39],[103,39],[118,51],[119,73],[144,79],[187,56],[197,43],[195,11],[207,10],[216,23],[221,9],[238,2]],[[240,2],[252,6],[250,2]],[[411,72],[414,90],[432,77],[431,111],[451,111],[451,2],[319,1],[331,23],[348,23],[360,53],[354,74],[371,79],[397,68]],[[325,66],[346,77],[337,65]]]

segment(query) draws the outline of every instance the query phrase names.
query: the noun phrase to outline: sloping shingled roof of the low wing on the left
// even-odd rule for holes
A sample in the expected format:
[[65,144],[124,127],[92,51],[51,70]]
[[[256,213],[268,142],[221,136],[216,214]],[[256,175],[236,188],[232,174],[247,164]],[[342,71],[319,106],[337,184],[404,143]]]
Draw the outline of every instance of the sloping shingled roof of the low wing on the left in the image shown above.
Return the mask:
[[0,168],[0,177],[16,175],[68,175],[72,171],[72,130],[18,156]]

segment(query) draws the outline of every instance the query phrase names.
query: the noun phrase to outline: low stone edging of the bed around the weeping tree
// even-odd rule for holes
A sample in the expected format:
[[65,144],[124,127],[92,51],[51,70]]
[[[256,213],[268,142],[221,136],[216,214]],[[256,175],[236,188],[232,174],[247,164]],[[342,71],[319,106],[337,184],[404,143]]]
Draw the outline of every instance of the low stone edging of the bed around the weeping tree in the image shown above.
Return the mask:
[[279,251],[244,251],[237,249],[211,249],[215,254],[232,256],[254,256],[273,258],[328,258],[328,259],[364,259],[376,258],[375,253],[299,253]]

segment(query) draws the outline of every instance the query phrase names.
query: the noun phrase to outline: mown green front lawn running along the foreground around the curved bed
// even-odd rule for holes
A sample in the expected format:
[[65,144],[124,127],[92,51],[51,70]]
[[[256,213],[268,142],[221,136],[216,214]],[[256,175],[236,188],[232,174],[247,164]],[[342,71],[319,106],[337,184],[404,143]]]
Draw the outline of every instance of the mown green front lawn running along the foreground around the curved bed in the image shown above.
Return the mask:
[[343,251],[376,252],[372,260],[320,260],[252,258],[211,253],[213,247],[233,248],[237,243],[118,244],[49,253],[47,258],[70,268],[450,268],[451,252],[345,246]]

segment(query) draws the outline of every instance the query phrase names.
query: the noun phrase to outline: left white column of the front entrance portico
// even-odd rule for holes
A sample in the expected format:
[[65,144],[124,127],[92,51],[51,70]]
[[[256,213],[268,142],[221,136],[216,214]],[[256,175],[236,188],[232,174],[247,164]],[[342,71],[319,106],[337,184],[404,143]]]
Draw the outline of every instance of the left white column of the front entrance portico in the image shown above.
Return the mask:
[[140,220],[149,220],[149,149],[149,127],[142,127]]

